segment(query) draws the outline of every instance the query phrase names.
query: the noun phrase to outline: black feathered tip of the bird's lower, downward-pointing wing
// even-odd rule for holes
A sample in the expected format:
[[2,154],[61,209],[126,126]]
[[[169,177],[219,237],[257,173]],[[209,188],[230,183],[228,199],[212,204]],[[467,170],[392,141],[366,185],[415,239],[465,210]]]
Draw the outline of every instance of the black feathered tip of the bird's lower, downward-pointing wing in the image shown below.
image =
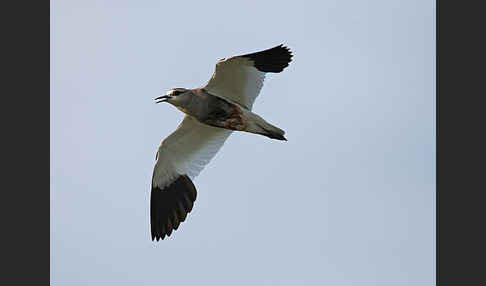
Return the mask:
[[150,227],[152,241],[164,240],[179,228],[196,200],[197,191],[187,175],[179,176],[169,186],[152,186],[150,195]]

